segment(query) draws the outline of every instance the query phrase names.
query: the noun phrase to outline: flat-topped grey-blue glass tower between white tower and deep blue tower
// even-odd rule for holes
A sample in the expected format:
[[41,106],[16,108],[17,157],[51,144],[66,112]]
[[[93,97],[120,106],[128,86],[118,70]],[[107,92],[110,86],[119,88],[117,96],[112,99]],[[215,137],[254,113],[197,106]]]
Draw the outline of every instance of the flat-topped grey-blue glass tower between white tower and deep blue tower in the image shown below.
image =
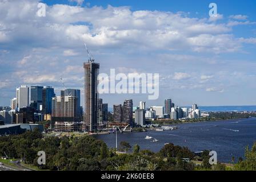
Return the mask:
[[43,86],[31,86],[30,92],[30,107],[40,111],[43,105]]

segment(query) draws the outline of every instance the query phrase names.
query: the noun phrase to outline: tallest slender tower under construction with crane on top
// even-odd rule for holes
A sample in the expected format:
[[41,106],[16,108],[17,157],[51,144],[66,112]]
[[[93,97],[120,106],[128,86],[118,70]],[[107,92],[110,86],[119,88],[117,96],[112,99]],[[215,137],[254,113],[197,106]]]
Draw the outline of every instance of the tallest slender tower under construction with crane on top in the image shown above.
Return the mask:
[[83,63],[85,69],[85,113],[83,115],[83,131],[97,131],[98,122],[98,75],[99,64],[94,63],[93,59],[89,59],[87,63]]

